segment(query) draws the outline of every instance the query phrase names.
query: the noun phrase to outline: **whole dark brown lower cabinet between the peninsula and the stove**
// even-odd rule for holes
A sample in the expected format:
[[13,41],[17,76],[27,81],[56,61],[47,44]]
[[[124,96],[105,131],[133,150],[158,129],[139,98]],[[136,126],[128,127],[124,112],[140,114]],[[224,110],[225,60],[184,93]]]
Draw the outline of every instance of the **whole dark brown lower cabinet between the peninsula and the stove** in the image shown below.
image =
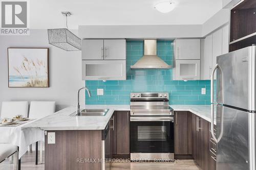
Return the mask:
[[115,111],[113,115],[113,155],[130,157],[130,111]]

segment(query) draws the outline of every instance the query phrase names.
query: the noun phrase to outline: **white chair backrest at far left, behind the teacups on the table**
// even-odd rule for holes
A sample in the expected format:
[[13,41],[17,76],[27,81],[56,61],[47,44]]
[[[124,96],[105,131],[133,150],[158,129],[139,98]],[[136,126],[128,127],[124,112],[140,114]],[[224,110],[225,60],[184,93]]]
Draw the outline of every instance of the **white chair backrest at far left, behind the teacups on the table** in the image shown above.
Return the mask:
[[29,102],[3,102],[1,109],[1,118],[12,118],[17,114],[28,117]]

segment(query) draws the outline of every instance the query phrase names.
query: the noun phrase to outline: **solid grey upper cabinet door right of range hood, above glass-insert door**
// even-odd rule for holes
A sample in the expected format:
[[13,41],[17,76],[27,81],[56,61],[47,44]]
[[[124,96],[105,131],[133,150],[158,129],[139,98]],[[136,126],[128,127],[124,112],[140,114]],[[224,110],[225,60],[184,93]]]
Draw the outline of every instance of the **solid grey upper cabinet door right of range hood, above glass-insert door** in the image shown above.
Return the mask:
[[176,60],[200,60],[200,39],[176,39]]

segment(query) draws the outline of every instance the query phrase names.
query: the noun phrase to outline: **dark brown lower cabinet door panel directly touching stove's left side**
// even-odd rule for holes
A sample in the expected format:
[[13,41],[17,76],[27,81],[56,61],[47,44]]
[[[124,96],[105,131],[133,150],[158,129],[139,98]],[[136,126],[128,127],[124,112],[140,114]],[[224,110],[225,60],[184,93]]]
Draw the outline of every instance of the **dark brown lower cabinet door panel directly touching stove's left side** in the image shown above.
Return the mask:
[[130,154],[130,112],[116,112],[116,153]]

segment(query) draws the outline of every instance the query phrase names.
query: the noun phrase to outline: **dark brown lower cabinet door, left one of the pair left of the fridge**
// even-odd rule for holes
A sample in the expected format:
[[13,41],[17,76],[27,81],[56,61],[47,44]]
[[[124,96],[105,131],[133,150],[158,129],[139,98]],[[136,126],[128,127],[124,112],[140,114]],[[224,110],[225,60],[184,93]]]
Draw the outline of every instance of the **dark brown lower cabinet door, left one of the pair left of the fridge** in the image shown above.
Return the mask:
[[194,160],[200,165],[200,143],[198,132],[198,116],[192,114],[192,156]]

